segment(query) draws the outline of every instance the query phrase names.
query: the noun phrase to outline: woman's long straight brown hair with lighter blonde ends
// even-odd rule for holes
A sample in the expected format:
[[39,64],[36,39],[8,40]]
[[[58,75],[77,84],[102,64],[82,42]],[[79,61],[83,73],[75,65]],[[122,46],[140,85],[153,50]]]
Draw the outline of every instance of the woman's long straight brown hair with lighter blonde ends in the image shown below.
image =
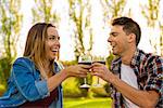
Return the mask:
[[[37,23],[28,31],[24,56],[30,58],[36,68],[39,69],[43,79],[48,79],[49,71],[46,72],[46,64],[49,59],[46,58],[46,40],[48,38],[48,27],[54,27],[47,23]],[[50,71],[53,71],[53,60],[50,62]]]

